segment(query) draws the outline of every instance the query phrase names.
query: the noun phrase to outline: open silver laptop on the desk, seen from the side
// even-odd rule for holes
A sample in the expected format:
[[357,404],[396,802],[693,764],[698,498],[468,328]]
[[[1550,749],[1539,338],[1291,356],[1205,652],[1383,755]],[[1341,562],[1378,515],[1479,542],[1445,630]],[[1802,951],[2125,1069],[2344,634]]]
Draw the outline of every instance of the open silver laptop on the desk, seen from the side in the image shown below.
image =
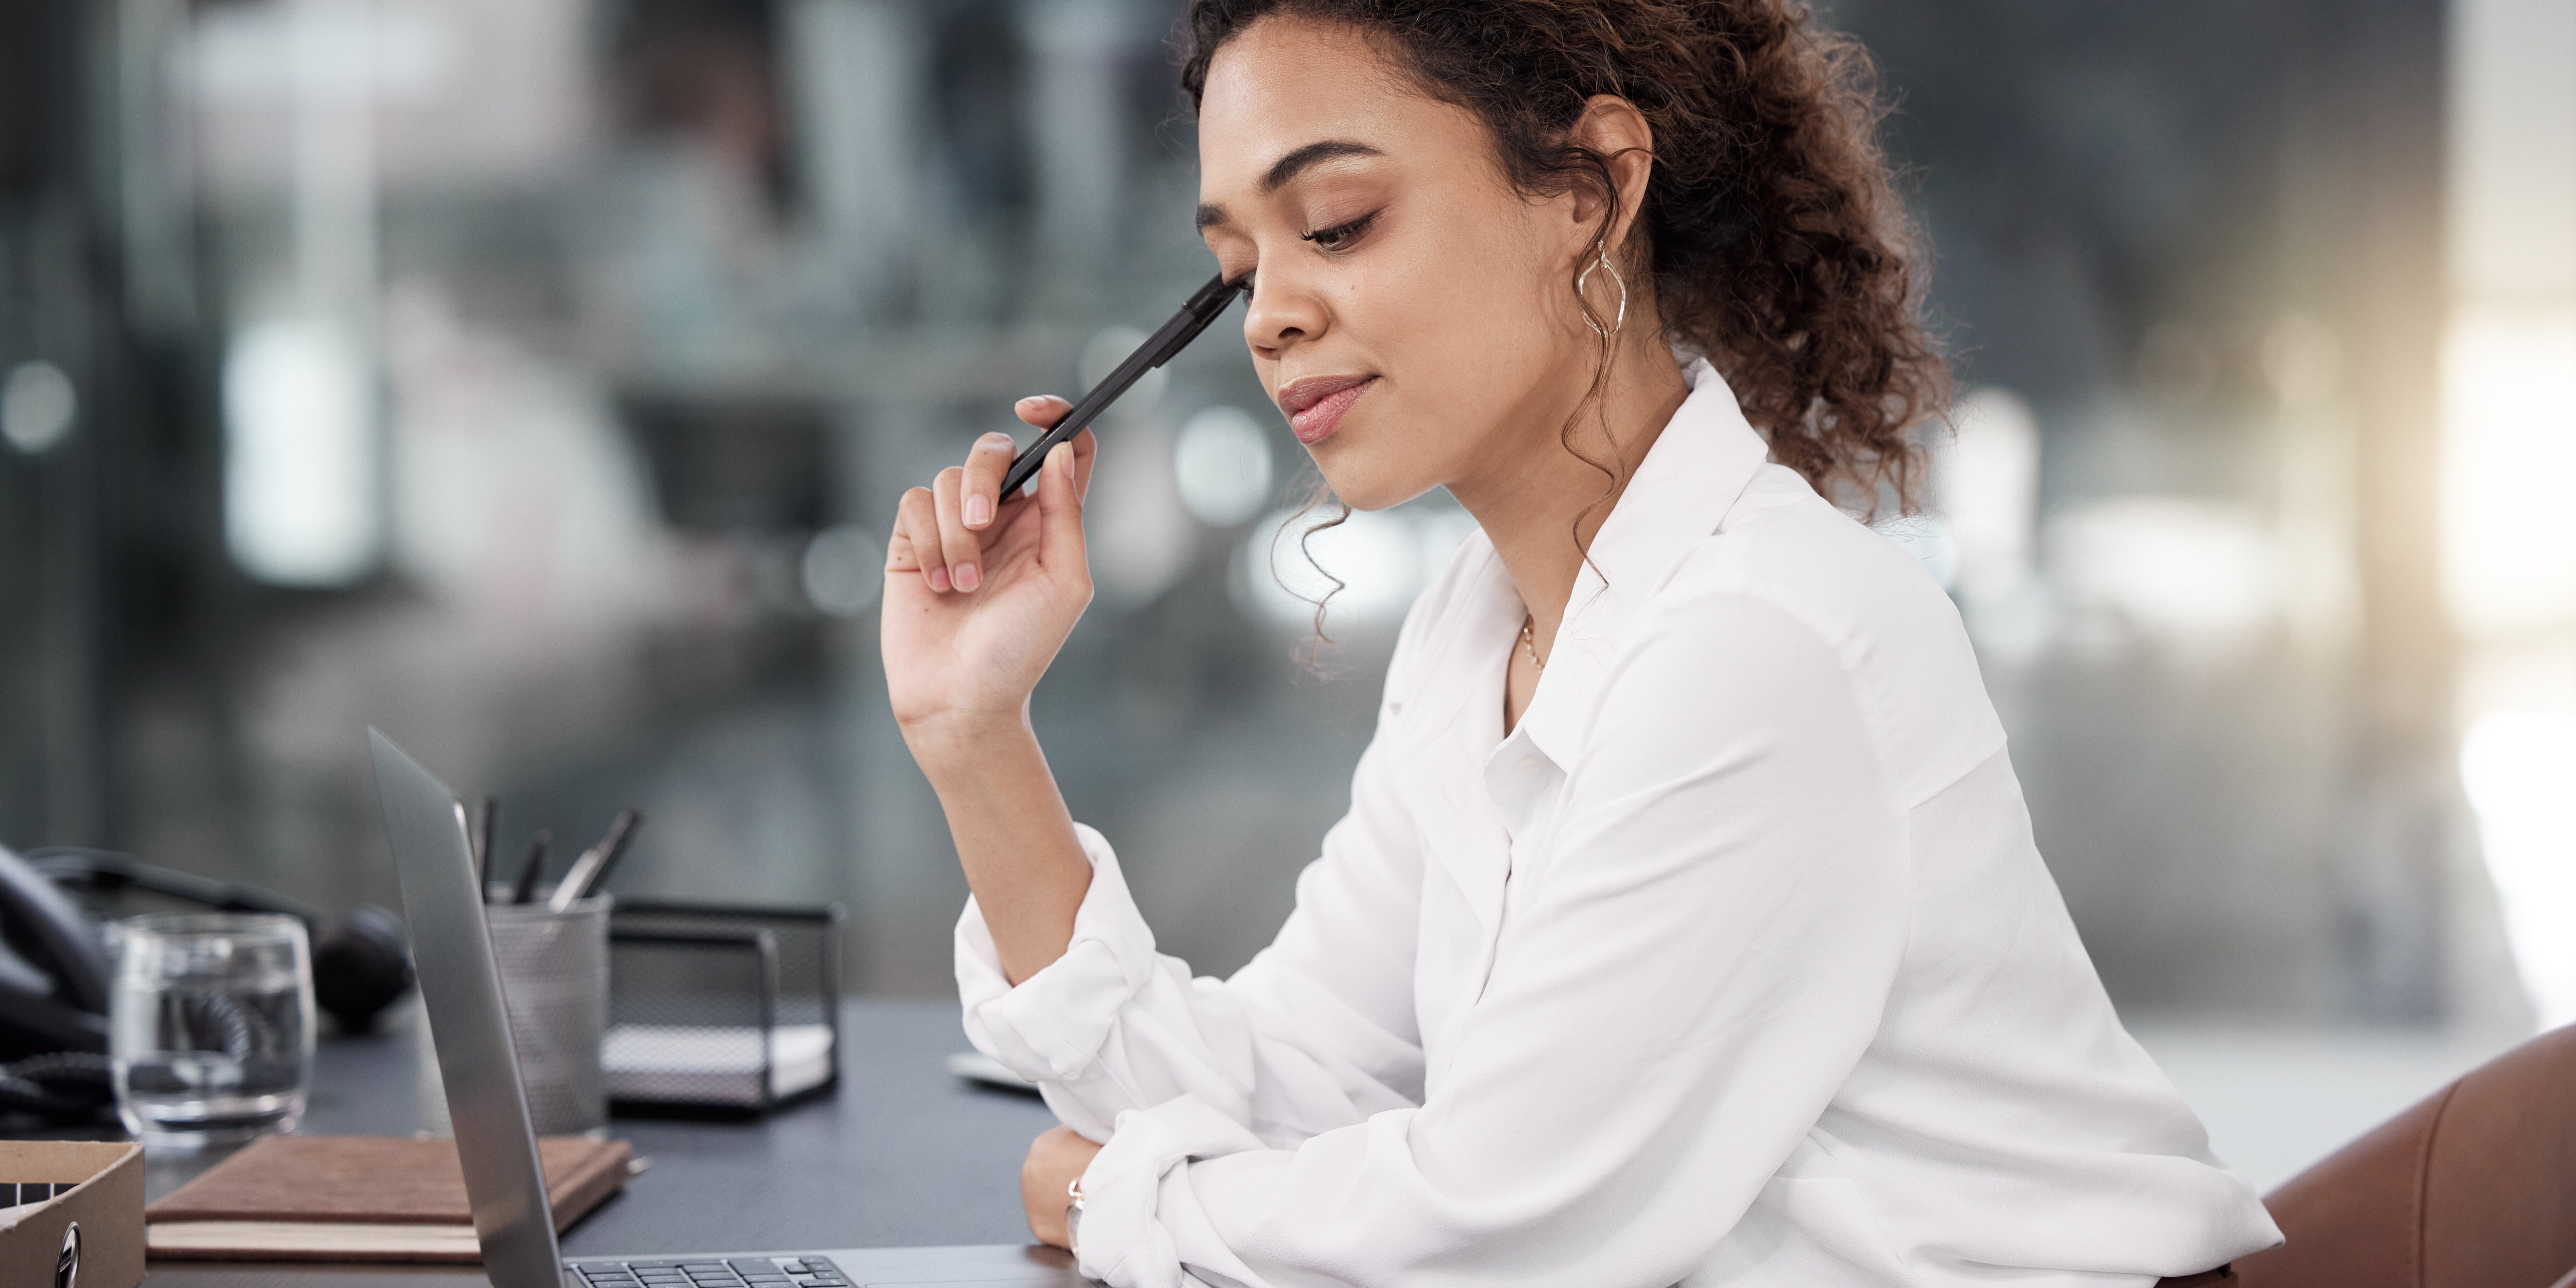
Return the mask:
[[492,1288],[1030,1288],[1079,1285],[1072,1257],[1048,1247],[832,1247],[819,1252],[703,1252],[685,1257],[574,1257],[554,1242],[554,1211],[536,1164],[536,1131],[500,1005],[466,809],[394,739],[376,747],[376,799],[402,873],[420,997],[438,1033],[456,1154],[474,1203]]

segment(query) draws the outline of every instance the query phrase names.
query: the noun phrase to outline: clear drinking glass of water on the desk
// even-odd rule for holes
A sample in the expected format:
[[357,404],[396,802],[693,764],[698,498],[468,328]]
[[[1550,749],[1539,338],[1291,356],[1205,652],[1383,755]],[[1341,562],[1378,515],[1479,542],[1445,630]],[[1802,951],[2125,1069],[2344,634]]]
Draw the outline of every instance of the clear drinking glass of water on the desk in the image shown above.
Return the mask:
[[237,912],[116,922],[108,1059],[116,1113],[147,1146],[294,1131],[314,1069],[304,922]]

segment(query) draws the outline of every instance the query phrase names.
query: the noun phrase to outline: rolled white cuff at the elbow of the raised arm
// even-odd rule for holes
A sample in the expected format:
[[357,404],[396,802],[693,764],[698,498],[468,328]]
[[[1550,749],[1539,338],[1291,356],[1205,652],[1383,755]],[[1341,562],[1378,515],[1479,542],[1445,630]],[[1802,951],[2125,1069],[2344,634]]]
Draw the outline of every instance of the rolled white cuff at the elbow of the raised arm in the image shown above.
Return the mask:
[[1118,1010],[1154,971],[1154,933],[1118,876],[1118,855],[1090,827],[1074,824],[1074,837],[1092,860],[1092,886],[1074,912],[1074,940],[1043,971],[1012,987],[1002,979],[1002,958],[974,899],[966,899],[958,917],[956,969],[966,1041],[1030,1082],[1082,1077],[1100,1056]]

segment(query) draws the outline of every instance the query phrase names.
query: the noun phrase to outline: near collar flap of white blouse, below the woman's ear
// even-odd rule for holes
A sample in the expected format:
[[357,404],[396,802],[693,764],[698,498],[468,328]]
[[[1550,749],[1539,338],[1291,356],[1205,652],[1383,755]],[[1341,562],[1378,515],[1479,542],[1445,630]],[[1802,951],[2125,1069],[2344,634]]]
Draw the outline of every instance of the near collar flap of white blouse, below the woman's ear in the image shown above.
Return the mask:
[[[1600,706],[1610,662],[1636,611],[1664,585],[1690,546],[1718,523],[1770,461],[1770,446],[1744,420],[1734,389],[1708,358],[1690,363],[1690,397],[1672,412],[1628,489],[1592,536],[1574,574],[1556,647],[1520,716],[1520,729],[1558,768],[1571,768]],[[1515,623],[1517,626],[1517,623]],[[1499,703],[1499,696],[1494,698]]]

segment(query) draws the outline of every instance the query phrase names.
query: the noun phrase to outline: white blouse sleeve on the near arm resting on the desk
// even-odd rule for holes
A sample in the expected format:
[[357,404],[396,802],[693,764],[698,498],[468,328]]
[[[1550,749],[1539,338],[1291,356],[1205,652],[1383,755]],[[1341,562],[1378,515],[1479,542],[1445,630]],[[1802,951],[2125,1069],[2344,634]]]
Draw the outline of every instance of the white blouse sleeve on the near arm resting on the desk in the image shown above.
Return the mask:
[[1664,1285],[1795,1185],[1904,951],[1904,809],[1788,613],[1710,595],[1638,636],[1430,1097],[1293,1149],[1195,1097],[1123,1110],[1084,1273]]

